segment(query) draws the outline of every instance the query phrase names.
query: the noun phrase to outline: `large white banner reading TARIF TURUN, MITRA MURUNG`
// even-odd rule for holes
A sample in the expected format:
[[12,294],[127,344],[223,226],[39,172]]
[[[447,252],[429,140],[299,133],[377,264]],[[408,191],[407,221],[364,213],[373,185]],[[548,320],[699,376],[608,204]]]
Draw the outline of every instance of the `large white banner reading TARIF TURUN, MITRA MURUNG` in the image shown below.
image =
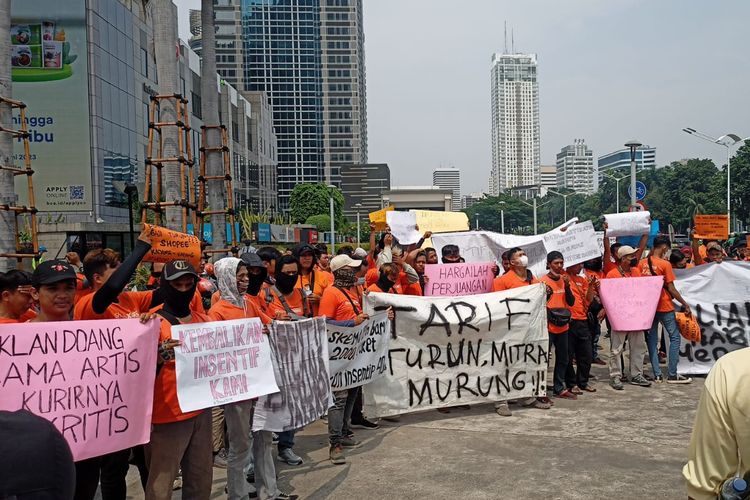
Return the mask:
[[549,361],[546,292],[531,285],[455,298],[370,293],[393,307],[385,376],[364,386],[367,415],[543,396]]

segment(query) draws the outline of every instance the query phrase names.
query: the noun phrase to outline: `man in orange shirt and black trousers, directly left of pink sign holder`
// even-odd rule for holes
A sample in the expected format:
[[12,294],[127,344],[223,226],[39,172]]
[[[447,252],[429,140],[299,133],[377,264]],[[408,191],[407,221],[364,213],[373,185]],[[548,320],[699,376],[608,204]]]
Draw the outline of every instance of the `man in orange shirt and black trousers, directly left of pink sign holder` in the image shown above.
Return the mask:
[[[589,327],[589,305],[594,300],[596,278],[581,276],[583,264],[568,266],[565,273],[570,281],[570,290],[575,303],[570,308],[570,329],[568,330],[568,368],[565,371],[565,386],[573,394],[582,391],[596,392],[589,384],[591,373],[591,328]],[[573,358],[575,357],[575,364]]]

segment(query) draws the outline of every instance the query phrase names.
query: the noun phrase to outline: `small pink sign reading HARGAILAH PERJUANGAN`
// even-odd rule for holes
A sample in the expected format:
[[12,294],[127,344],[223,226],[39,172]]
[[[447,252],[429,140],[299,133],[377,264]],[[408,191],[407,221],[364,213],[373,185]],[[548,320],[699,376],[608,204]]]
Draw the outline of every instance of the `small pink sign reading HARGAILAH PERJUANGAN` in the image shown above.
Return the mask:
[[425,266],[425,295],[455,297],[492,291],[491,262],[431,264]]

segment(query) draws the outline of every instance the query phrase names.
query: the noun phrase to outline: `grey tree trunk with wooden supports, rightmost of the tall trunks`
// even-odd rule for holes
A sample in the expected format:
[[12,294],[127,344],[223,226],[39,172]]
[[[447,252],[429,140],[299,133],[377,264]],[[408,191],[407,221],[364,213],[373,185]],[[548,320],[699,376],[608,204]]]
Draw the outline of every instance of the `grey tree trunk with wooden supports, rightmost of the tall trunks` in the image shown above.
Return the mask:
[[[214,0],[201,0],[201,113],[203,123],[208,126],[219,125],[219,95],[216,92],[216,31],[214,28]],[[227,120],[231,123],[231,120]],[[204,147],[221,146],[219,129],[206,130]],[[224,175],[222,153],[206,152],[206,173],[209,176]],[[224,183],[211,181],[206,183],[207,203],[210,210],[219,210],[226,205],[226,197],[234,193],[224,192]],[[222,214],[211,216],[213,241],[215,248],[222,248],[226,240],[225,217]]]

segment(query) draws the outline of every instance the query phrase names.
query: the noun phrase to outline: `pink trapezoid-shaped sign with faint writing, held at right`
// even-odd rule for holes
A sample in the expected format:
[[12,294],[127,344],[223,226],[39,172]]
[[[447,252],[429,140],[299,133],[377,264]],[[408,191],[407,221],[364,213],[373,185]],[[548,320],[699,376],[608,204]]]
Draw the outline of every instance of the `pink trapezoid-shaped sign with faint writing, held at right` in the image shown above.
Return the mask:
[[648,330],[664,286],[662,276],[611,278],[600,281],[599,293],[613,330]]

